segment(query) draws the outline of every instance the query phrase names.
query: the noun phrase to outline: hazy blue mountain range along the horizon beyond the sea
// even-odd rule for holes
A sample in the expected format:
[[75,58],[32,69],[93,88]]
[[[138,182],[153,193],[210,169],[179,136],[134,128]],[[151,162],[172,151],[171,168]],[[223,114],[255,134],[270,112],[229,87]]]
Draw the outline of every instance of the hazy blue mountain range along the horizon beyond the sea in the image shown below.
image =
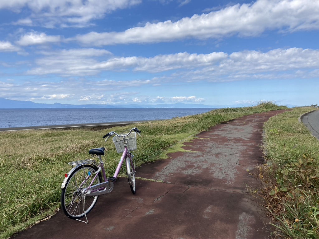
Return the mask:
[[[88,104],[88,105],[70,105],[70,104],[41,104],[34,103],[32,101],[22,101],[22,100],[10,100],[5,98],[0,98],[0,109],[57,109],[57,108],[226,108],[226,107],[247,107],[252,106],[246,105],[203,105],[203,104],[158,104],[158,105],[98,105],[98,104]],[[295,107],[293,105],[286,105],[287,107]]]

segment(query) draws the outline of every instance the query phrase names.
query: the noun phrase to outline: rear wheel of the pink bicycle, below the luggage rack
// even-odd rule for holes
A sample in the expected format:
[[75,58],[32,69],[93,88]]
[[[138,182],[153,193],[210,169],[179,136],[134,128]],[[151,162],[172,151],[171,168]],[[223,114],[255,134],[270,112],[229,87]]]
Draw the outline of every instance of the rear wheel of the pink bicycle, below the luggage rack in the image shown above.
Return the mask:
[[[95,206],[99,196],[86,196],[85,195],[85,205],[83,211],[83,197],[82,191],[84,188],[88,187],[91,180],[94,177],[94,172],[98,168],[92,164],[84,164],[78,166],[74,170],[68,180],[66,181],[65,187],[62,189],[61,193],[61,207],[63,213],[71,219],[80,219],[88,214]],[[86,180],[86,176],[89,176],[91,180]],[[82,184],[82,182],[84,184]],[[95,178],[92,185],[96,185],[102,182],[101,173],[98,173],[98,177]],[[82,184],[82,185],[81,185]]]

